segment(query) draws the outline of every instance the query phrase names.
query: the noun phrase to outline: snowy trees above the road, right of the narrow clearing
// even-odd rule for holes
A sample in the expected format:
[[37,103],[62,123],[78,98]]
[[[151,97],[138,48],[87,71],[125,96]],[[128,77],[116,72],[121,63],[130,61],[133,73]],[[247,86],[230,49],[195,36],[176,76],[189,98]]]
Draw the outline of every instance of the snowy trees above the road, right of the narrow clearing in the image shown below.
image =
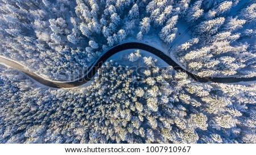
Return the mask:
[[[184,41],[174,52],[191,72],[201,77],[254,77],[256,3],[240,3],[196,1],[189,7],[186,20],[193,22],[192,37],[199,41]],[[190,17],[204,7],[209,11],[203,16],[196,20]]]

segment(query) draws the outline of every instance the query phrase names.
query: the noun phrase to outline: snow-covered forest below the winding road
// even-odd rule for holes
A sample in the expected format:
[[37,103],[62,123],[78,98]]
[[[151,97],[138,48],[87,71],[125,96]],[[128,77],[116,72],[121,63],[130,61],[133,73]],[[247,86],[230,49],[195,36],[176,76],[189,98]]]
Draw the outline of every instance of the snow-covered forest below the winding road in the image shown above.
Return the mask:
[[1,66],[0,143],[256,143],[255,83],[193,82],[171,66],[158,72],[138,51],[127,61],[148,69],[110,60],[92,85],[72,90]]

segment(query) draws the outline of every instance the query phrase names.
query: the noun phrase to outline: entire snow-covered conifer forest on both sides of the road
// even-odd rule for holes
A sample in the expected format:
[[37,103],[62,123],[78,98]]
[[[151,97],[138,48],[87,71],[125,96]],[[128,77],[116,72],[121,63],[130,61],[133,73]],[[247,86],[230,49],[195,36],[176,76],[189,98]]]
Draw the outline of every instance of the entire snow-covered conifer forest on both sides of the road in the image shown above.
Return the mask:
[[[200,77],[256,76],[255,0],[0,0],[0,56],[47,79],[148,37]],[[255,81],[200,83],[125,57],[74,89],[0,64],[0,143],[256,143]]]

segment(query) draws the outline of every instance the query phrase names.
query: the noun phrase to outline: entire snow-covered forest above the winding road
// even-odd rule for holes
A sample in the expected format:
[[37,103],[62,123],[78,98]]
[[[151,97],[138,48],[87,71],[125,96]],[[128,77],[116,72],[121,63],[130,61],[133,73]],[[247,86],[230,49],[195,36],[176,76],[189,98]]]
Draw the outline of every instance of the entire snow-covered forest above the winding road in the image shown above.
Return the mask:
[[[0,1],[1,55],[49,79],[79,74],[126,38],[153,35],[199,76],[254,77],[256,1]],[[176,23],[187,26],[180,34]]]

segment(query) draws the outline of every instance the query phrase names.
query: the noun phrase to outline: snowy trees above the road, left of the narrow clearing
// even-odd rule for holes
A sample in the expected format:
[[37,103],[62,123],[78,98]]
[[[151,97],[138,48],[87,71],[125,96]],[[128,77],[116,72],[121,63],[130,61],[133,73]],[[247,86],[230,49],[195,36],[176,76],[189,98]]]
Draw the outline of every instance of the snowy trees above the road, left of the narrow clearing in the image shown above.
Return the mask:
[[176,35],[170,27],[177,21],[170,19],[184,14],[188,5],[162,0],[1,1],[1,55],[49,79],[58,80],[63,72],[76,78],[74,70],[90,66],[105,49],[126,37],[142,40],[155,27],[158,34],[167,20],[161,39],[171,43]]

